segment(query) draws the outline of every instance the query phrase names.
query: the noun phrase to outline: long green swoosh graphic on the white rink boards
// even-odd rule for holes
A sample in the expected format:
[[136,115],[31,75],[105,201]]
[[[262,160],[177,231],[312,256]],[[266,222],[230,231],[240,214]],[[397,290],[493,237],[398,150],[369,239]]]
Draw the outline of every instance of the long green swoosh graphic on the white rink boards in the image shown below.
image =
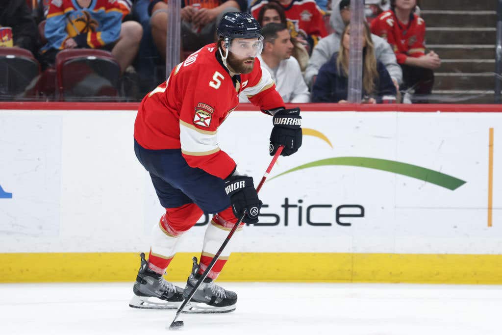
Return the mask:
[[438,186],[448,188],[452,191],[466,183],[461,179],[455,178],[453,176],[438,171],[426,169],[421,166],[411,165],[396,161],[389,161],[386,159],[368,158],[368,157],[333,157],[333,158],[321,159],[319,161],[310,162],[307,164],[297,166],[293,169],[278,174],[277,176],[271,178],[270,180],[293,171],[308,169],[316,166],[327,166],[327,165],[358,166],[369,169],[393,172],[397,174],[402,174],[404,176],[412,177],[415,179],[420,179],[432,184],[436,184]]

